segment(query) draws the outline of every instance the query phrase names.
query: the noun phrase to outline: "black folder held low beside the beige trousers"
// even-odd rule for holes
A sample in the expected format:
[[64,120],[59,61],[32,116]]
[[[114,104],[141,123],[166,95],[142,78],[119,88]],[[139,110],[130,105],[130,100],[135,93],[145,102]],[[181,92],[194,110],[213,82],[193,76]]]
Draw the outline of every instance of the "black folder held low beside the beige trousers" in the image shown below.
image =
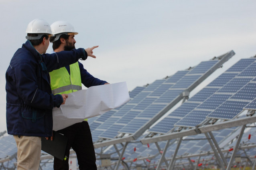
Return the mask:
[[48,140],[46,140],[45,137],[41,138],[41,150],[51,154],[52,156],[55,156],[60,160],[64,160],[67,148],[67,140],[67,136],[53,131],[53,140],[51,140],[51,137]]

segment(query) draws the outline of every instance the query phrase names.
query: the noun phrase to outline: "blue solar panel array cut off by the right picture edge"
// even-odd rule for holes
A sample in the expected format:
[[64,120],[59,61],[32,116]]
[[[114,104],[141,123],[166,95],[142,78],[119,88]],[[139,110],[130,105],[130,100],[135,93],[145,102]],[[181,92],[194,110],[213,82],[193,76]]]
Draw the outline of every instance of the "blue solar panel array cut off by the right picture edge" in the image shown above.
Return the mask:
[[256,96],[255,61],[238,61],[148,131],[165,134],[175,126],[195,127],[205,118],[234,118]]

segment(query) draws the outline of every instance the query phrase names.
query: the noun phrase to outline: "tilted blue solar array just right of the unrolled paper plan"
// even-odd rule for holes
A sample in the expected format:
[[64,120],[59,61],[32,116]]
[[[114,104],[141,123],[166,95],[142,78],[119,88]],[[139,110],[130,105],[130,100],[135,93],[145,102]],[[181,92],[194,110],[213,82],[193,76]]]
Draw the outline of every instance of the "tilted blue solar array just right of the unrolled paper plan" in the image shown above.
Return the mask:
[[[201,62],[191,70],[179,71],[169,78],[156,80],[126,104],[127,110],[123,111],[121,108],[108,118],[106,122],[114,122],[112,126],[105,129],[102,124],[92,133],[96,131],[98,135],[102,131],[98,137],[106,139],[115,138],[119,133],[135,133],[218,62],[219,60]],[[128,116],[130,114],[133,118]]]

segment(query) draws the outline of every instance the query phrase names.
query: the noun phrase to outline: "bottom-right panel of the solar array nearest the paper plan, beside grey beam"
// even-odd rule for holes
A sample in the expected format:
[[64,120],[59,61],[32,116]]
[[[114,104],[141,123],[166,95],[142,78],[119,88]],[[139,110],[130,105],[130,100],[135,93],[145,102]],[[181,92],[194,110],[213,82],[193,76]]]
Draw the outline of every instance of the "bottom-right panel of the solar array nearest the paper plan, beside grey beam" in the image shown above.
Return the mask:
[[140,127],[142,127],[148,120],[145,119],[133,119],[129,124],[127,124],[124,128],[119,130],[119,133],[135,133]]

